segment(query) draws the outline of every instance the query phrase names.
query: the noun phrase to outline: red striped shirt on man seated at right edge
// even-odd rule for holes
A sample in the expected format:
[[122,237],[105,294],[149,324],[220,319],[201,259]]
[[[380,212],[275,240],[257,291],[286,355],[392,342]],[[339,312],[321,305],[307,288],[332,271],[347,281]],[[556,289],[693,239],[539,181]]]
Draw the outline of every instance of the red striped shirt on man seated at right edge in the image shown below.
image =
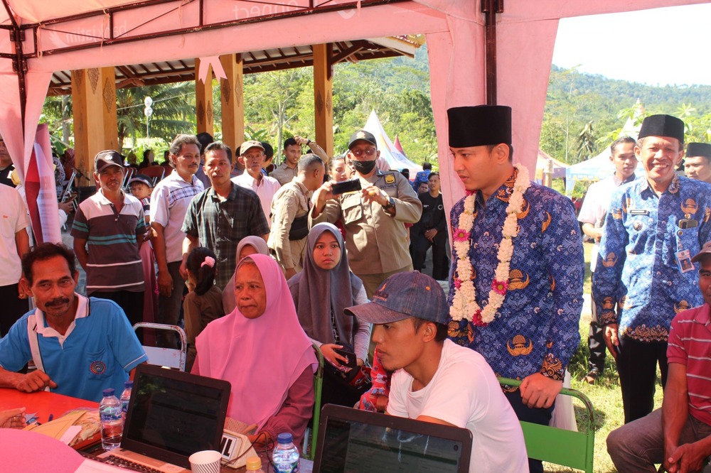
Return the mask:
[[689,413],[711,425],[711,307],[680,312],[671,322],[667,361],[686,366]]

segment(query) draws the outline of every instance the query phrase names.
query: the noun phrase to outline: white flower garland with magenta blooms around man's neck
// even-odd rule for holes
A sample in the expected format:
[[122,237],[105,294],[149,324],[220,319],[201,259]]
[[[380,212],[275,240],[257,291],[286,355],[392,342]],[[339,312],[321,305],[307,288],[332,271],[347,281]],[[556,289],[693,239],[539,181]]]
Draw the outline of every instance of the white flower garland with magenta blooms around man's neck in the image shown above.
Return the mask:
[[456,261],[456,277],[454,278],[454,298],[449,308],[449,315],[454,320],[471,320],[474,325],[486,326],[496,317],[496,312],[503,305],[508,289],[508,273],[511,256],[513,256],[513,238],[518,235],[518,214],[523,210],[523,194],[530,187],[528,169],[523,165],[515,165],[518,170],[513,192],[506,207],[506,220],[503,222],[501,244],[498,246],[498,266],[491,281],[488,303],[482,309],[476,303],[476,288],[474,286],[474,268],[469,260],[469,238],[474,228],[474,205],[476,191],[464,199],[464,212],[459,215],[459,228],[454,229],[452,239],[458,259]]

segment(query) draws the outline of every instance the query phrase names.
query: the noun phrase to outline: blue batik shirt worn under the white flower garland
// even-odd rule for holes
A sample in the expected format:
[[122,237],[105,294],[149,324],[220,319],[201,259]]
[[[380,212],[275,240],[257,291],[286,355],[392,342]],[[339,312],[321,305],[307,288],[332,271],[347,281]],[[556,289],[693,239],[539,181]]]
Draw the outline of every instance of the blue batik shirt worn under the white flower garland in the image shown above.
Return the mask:
[[[476,303],[483,308],[498,266],[498,246],[508,199],[518,171],[483,202],[476,195],[469,259],[474,266]],[[506,299],[486,327],[468,320],[449,322],[449,337],[481,353],[497,376],[523,379],[540,373],[561,380],[578,347],[584,257],[572,203],[555,190],[531,184],[526,190],[520,228],[513,239]],[[451,210],[459,227],[464,199]],[[458,256],[453,250],[449,304],[454,296]]]

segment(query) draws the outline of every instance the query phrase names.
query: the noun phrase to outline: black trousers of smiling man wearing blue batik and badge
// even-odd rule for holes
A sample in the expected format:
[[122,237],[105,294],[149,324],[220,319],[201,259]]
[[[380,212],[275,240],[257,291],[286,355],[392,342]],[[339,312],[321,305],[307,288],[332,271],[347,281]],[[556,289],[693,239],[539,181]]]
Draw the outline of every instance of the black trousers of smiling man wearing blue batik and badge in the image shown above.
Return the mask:
[[666,385],[666,342],[638,342],[620,337],[617,372],[620,377],[624,423],[643,418],[654,408],[657,364]]

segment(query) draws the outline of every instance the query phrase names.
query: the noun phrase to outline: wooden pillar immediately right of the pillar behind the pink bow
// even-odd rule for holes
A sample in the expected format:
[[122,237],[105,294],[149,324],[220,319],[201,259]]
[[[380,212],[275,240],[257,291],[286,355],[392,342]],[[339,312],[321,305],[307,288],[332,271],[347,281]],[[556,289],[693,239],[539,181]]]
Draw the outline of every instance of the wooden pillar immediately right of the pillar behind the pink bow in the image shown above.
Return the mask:
[[245,141],[245,101],[242,55],[225,54],[220,62],[227,79],[220,79],[220,102],[222,102],[223,142],[232,148],[235,157]]

